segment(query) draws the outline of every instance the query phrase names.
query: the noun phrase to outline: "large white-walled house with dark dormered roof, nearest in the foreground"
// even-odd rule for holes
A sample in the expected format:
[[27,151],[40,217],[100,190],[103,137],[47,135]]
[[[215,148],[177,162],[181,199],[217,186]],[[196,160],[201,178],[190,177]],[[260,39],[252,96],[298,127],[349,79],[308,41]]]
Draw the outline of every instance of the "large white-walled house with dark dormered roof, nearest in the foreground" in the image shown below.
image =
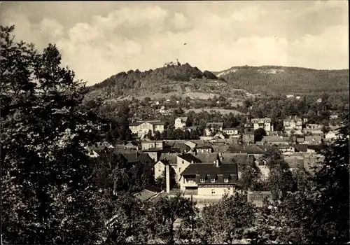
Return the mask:
[[180,188],[185,195],[203,199],[221,199],[235,193],[238,172],[236,163],[194,163],[181,173]]

